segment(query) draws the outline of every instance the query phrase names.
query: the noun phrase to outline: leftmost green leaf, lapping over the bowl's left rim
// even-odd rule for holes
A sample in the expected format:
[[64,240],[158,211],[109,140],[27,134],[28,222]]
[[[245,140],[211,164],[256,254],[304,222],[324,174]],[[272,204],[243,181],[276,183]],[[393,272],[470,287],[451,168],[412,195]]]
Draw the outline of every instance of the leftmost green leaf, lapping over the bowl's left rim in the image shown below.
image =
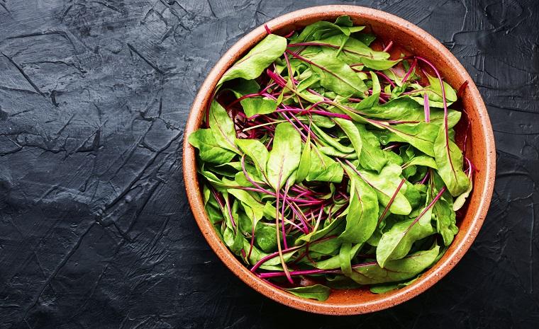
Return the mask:
[[209,163],[227,163],[235,156],[234,152],[223,149],[213,137],[211,129],[199,129],[189,135],[189,144],[199,149],[202,161]]

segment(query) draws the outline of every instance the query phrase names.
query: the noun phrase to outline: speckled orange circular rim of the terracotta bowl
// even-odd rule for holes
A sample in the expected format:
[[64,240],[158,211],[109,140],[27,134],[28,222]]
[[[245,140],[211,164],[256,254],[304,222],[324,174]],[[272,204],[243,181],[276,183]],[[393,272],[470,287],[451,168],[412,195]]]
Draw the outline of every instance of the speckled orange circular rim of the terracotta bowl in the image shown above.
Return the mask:
[[[208,91],[213,91],[213,88],[216,86],[216,82],[221,75],[224,74],[226,69],[228,69],[228,66],[237,56],[238,52],[243,53],[243,50],[252,47],[255,45],[255,43],[260,41],[262,37],[267,35],[264,25],[267,25],[267,27],[271,30],[278,30],[279,28],[283,28],[291,23],[294,23],[294,21],[297,21],[298,17],[304,19],[306,16],[338,16],[343,14],[362,16],[367,20],[391,21],[391,23],[394,25],[399,26],[399,28],[402,30],[405,30],[407,34],[422,38],[426,43],[430,44],[431,47],[434,47],[435,50],[438,51],[442,57],[444,57],[450,66],[455,67],[455,71],[458,72],[457,76],[461,76],[464,78],[464,80],[469,81],[468,90],[470,92],[470,97],[472,98],[471,101],[477,105],[477,114],[479,116],[479,122],[481,122],[481,127],[479,127],[479,129],[482,129],[482,134],[486,139],[486,149],[484,151],[486,153],[486,163],[484,170],[487,173],[485,177],[486,183],[484,184],[483,189],[480,191],[479,204],[477,206],[478,211],[473,214],[469,228],[464,232],[465,236],[462,238],[460,243],[453,248],[452,253],[449,253],[448,257],[440,259],[429,272],[421,275],[421,277],[419,277],[414,284],[411,284],[403,289],[399,289],[394,293],[387,294],[387,296],[382,296],[377,300],[361,301],[355,304],[330,304],[325,301],[303,299],[270,286],[270,284],[265,283],[262,279],[250,272],[248,267],[245,267],[245,265],[243,265],[235,257],[235,255],[228,250],[228,248],[218,237],[216,231],[213,229],[213,226],[211,225],[211,222],[209,221],[204,210],[204,202],[202,200],[199,189],[199,181],[196,173],[195,151],[194,147],[189,144],[186,136],[189,136],[189,134],[199,128],[197,122],[200,120],[199,118],[202,115],[201,112],[204,111],[204,108],[202,108],[201,105],[206,102],[205,98],[208,97]],[[438,40],[435,39],[435,37],[427,33],[425,30],[419,28],[409,21],[404,20],[403,18],[399,18],[398,16],[363,6],[329,5],[303,8],[298,11],[292,11],[282,16],[278,16],[277,18],[258,26],[247,35],[241,37],[238,42],[235,42],[235,44],[230,47],[225,54],[223,54],[221,59],[219,59],[219,61],[209,72],[208,76],[204,80],[204,83],[202,83],[201,87],[199,88],[199,92],[191,105],[189,118],[184,130],[183,172],[187,198],[191,206],[191,211],[194,214],[196,224],[198,224],[201,233],[204,235],[204,238],[206,238],[206,241],[209,243],[210,247],[216,253],[218,258],[220,258],[221,261],[223,261],[223,263],[228,267],[228,269],[242,279],[243,282],[252,287],[252,289],[255,289],[257,292],[260,292],[260,294],[263,294],[281,304],[312,313],[353,315],[380,311],[382,309],[401,304],[404,301],[408,301],[414,296],[417,296],[418,294],[426,291],[426,289],[432,287],[433,284],[438,282],[450,270],[452,270],[453,267],[455,267],[457,262],[461,260],[463,255],[472,245],[477,233],[479,233],[479,229],[481,228],[487,215],[491,195],[494,190],[495,171],[496,151],[491,122],[489,120],[487,108],[485,107],[479,94],[479,90],[477,89],[477,86],[475,86],[474,81],[469,76],[466,69],[445,46],[443,46]]]

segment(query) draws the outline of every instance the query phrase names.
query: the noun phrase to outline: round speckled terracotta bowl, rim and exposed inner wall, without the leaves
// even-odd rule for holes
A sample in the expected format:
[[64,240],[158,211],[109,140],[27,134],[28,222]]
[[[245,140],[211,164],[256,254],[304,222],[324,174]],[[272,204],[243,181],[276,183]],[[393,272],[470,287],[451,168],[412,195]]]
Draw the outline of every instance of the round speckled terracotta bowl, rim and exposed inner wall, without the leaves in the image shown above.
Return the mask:
[[459,88],[465,81],[469,84],[462,95],[462,107],[468,114],[471,136],[467,139],[466,156],[477,166],[474,175],[474,189],[469,197],[465,216],[459,223],[459,233],[438,263],[425,272],[413,284],[387,294],[372,294],[368,289],[333,291],[326,301],[302,299],[271,287],[253,275],[233,253],[221,242],[214,231],[202,202],[199,180],[196,175],[195,149],[187,142],[189,134],[198,129],[206,106],[211,100],[211,92],[217,81],[234,62],[240,59],[257,42],[267,35],[264,26],[259,26],[245,35],[223,55],[210,71],[206,81],[194,99],[184,138],[184,180],[187,197],[196,223],[225,265],[246,284],[261,294],[287,306],[313,313],[351,315],[379,311],[407,301],[446,275],[469,249],[474,241],[489,208],[494,187],[495,149],[492,128],[477,87],[458,60],[438,40],[421,28],[404,19],[383,11],[360,6],[318,6],[287,13],[267,22],[267,26],[278,35],[285,35],[316,21],[333,21],[340,15],[349,15],[355,25],[365,25],[367,30],[382,40],[393,40],[401,50],[421,55],[429,59],[440,70],[445,81],[453,88]]

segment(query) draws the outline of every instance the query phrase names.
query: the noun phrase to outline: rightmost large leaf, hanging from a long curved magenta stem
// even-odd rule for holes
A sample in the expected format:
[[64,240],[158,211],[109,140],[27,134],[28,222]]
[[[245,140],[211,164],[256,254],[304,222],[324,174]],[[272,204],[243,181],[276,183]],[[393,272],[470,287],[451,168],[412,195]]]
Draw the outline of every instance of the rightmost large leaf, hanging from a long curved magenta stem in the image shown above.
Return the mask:
[[469,187],[469,179],[462,171],[462,151],[449,137],[446,138],[443,127],[438,130],[438,137],[434,143],[434,158],[438,174],[451,195],[457,197],[466,192]]

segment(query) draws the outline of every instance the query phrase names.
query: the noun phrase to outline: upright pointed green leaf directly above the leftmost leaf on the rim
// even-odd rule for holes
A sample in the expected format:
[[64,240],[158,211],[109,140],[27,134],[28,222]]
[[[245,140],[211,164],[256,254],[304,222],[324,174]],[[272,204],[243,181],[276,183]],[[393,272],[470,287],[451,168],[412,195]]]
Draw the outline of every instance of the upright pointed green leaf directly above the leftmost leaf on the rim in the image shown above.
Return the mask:
[[217,103],[216,100],[211,102],[209,125],[218,145],[221,145],[224,149],[240,154],[238,147],[235,145],[236,134],[234,122],[230,119],[226,110],[221,104]]

